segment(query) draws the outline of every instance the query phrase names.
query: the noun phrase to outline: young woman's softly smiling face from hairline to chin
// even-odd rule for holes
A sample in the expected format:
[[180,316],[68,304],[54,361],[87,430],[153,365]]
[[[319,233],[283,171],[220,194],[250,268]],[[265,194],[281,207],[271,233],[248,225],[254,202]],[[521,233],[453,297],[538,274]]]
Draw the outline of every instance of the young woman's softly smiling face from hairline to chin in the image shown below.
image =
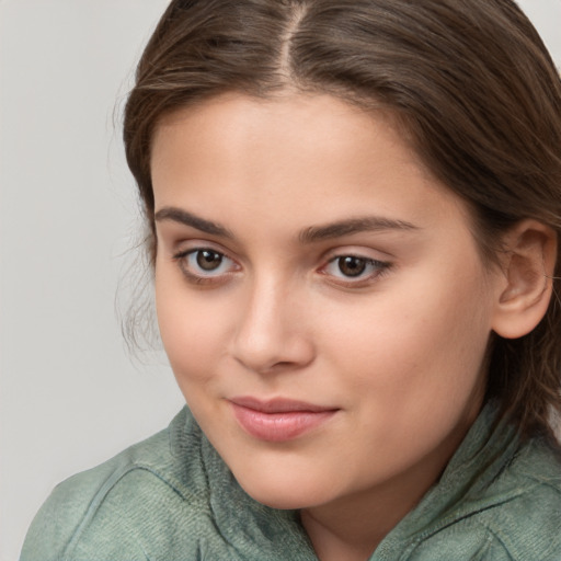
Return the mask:
[[419,499],[484,393],[500,283],[465,205],[328,95],[178,112],[151,167],[163,344],[240,484],[282,508]]

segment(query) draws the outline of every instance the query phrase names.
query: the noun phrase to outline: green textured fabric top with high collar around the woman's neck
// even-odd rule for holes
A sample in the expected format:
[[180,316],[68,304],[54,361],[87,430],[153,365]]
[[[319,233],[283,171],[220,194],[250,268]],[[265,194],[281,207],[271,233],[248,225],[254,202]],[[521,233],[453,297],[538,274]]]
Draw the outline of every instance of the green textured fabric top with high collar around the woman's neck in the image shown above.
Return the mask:
[[[561,561],[561,461],[493,428],[488,405],[439,482],[370,561]],[[249,497],[187,409],[170,426],[58,485],[21,561],[307,561],[298,514]]]

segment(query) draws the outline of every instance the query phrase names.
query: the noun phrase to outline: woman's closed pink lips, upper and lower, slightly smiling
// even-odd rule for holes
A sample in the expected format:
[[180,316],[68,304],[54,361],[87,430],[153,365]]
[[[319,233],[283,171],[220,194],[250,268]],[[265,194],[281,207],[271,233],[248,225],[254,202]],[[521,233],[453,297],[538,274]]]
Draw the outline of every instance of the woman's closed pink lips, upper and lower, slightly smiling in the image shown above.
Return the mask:
[[251,436],[274,443],[287,442],[317,428],[339,410],[304,401],[276,398],[262,401],[252,397],[229,400],[233,415]]

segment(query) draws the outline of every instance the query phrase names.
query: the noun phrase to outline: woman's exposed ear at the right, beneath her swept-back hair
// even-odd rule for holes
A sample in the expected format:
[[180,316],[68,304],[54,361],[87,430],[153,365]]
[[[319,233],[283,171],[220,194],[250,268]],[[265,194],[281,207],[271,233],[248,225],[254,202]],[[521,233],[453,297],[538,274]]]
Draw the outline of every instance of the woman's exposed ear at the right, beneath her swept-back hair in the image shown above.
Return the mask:
[[537,220],[522,220],[503,239],[503,277],[492,328],[505,339],[529,333],[551,299],[557,233]]

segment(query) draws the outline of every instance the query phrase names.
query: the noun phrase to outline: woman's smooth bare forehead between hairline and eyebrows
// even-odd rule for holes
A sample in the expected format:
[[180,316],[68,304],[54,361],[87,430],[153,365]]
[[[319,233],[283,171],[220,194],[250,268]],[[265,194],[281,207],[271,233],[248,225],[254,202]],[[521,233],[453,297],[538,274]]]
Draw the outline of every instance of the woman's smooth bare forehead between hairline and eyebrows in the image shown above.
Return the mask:
[[[330,95],[225,95],[167,115],[151,154],[156,210],[217,221],[267,216],[270,228],[375,213],[430,224],[466,206],[419,161],[383,114]],[[343,216],[345,215],[345,216]]]

